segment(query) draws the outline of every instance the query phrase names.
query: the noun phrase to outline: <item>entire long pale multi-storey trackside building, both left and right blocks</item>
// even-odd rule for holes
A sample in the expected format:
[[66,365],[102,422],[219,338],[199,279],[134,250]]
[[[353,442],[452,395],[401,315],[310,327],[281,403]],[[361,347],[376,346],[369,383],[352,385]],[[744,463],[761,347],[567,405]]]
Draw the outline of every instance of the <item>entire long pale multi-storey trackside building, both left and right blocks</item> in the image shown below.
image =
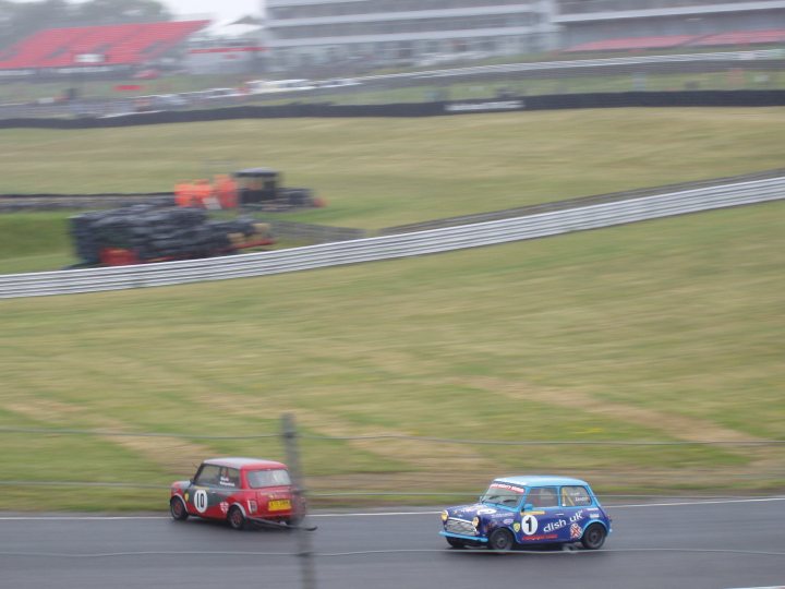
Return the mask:
[[785,0],[267,0],[266,5],[270,62],[290,71],[437,65],[577,46],[594,50],[591,44],[615,39],[642,40],[597,49],[700,46],[703,37],[705,46],[776,44],[785,28]]

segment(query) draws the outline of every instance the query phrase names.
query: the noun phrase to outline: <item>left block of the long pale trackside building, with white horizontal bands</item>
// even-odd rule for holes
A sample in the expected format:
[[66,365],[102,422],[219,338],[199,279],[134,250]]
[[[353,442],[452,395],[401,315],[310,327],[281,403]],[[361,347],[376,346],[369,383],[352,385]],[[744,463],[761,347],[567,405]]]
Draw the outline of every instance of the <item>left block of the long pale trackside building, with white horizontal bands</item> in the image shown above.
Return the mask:
[[267,0],[278,69],[432,65],[557,43],[553,0]]

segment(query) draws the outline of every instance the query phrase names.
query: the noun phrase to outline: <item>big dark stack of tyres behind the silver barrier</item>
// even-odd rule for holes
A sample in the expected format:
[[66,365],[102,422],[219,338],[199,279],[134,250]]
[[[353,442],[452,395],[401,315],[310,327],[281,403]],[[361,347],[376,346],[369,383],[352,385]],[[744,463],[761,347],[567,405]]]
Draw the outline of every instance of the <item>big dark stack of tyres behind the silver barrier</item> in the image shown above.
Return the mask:
[[132,205],[71,218],[76,255],[98,264],[101,251],[129,250],[140,262],[207,257],[237,249],[237,237],[258,237],[253,218],[210,220],[201,208]]

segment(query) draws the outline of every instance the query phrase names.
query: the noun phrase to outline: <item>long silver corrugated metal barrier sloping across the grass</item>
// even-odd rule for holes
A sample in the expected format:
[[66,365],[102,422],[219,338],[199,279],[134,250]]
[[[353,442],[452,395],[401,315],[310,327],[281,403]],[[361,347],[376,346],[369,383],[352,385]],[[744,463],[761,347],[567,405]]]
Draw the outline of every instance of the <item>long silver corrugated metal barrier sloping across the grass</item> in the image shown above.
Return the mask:
[[785,199],[785,177],[459,227],[188,262],[0,276],[0,298],[244,278],[494,245]]

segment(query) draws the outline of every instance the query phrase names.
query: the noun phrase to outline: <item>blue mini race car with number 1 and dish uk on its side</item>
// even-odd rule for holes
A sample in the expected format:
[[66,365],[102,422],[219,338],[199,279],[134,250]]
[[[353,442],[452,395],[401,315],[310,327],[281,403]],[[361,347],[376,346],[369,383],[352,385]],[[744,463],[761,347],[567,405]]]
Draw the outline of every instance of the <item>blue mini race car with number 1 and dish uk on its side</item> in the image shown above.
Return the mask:
[[565,477],[495,479],[480,503],[442,512],[439,532],[452,548],[515,546],[580,542],[597,550],[611,533],[611,518],[585,481]]

